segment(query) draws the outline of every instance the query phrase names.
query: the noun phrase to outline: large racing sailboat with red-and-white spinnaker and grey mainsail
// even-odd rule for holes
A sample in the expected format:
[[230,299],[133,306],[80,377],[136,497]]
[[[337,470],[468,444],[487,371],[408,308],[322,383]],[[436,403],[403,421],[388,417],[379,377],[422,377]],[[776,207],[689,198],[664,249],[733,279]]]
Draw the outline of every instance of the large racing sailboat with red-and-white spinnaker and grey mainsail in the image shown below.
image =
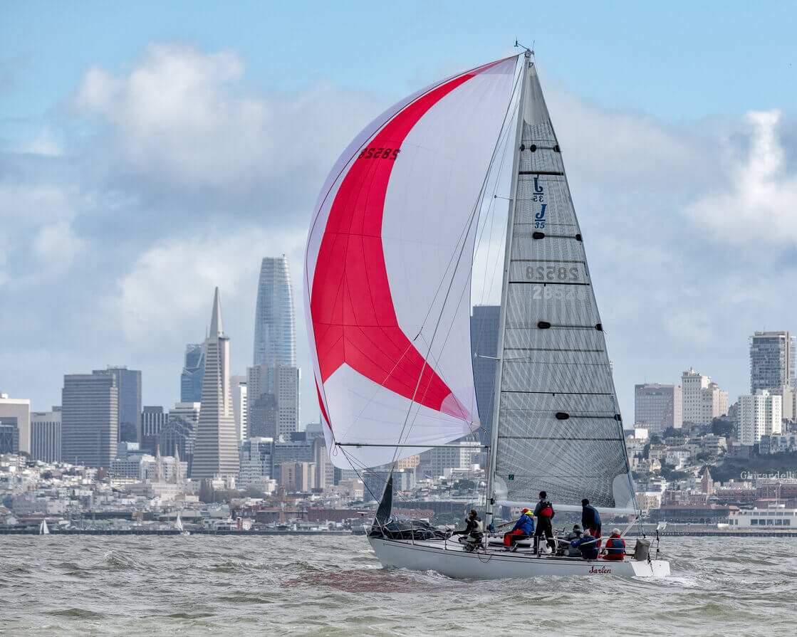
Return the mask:
[[[507,202],[507,227],[485,526],[499,507],[533,508],[540,490],[557,511],[588,498],[638,519],[584,237],[528,49],[388,108],[321,189],[304,303],[332,463],[393,469],[481,428],[471,278],[479,217],[496,201]],[[391,502],[392,474],[368,537],[388,567],[477,579],[669,574],[644,541],[634,557],[589,561],[506,553],[489,533],[477,550],[389,533]]]

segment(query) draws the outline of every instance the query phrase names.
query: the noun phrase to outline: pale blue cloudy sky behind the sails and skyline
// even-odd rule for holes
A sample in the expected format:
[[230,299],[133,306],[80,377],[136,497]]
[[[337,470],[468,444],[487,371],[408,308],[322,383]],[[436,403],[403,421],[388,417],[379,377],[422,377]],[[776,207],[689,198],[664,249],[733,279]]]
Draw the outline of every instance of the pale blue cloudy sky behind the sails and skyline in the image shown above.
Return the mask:
[[[710,24],[684,21],[685,8],[536,7],[560,37],[517,33],[510,11],[485,29],[468,6],[426,7],[410,52],[380,61],[357,44],[359,21],[325,6],[300,29],[323,61],[296,56],[291,29],[277,28],[294,24],[288,7],[273,8],[269,37],[179,2],[143,3],[137,29],[88,7],[53,7],[49,21],[10,7],[0,25],[0,286],[15,309],[0,315],[14,334],[0,352],[0,391],[41,411],[59,402],[64,373],[128,365],[143,373],[144,403],[172,404],[216,285],[241,344],[230,366],[245,373],[260,260],[285,254],[300,293],[309,215],[347,141],[406,92],[515,53],[525,37],[536,38],[621,412],[633,413],[634,384],[676,381],[685,365],[746,393],[748,336],[797,331],[797,301],[783,292],[797,274],[797,96],[778,44],[790,41],[795,9],[748,16],[742,29],[727,5],[705,9]],[[402,33],[386,8],[374,11]],[[456,38],[434,28],[442,19]],[[58,49],[61,20],[80,46]],[[690,46],[670,46],[675,28]],[[618,29],[637,35],[603,35]],[[727,64],[729,38],[756,35],[760,45]],[[595,51],[597,74],[584,64]],[[301,303],[296,322],[309,421]]]

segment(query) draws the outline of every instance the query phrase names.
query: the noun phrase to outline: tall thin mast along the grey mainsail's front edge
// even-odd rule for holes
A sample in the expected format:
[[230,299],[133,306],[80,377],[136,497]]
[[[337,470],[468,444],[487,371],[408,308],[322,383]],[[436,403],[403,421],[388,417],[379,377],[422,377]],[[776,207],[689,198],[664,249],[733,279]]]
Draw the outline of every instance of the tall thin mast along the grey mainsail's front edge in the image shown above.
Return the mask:
[[532,52],[526,49],[523,68],[520,69],[520,97],[517,103],[517,124],[515,147],[512,151],[512,184],[509,188],[511,199],[507,211],[506,248],[504,252],[504,280],[501,284],[501,313],[498,319],[498,361],[493,391],[493,426],[490,430],[490,460],[487,471],[487,502],[485,506],[485,529],[493,523],[493,502],[495,501],[496,455],[498,451],[498,414],[501,411],[501,374],[504,365],[504,333],[506,326],[506,297],[509,284],[509,266],[512,260],[512,229],[515,227],[518,166],[520,163],[520,139],[523,135],[523,109],[526,101],[526,76],[531,64]]

